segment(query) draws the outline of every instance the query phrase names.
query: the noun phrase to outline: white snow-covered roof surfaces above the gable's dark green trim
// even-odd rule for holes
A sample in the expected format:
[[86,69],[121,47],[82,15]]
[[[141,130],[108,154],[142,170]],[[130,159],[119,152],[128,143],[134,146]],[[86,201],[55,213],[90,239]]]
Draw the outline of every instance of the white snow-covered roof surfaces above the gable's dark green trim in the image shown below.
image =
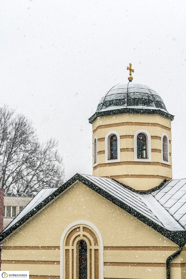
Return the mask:
[[[148,193],[140,193],[133,189],[129,189],[127,186],[111,178],[76,174],[59,188],[42,189],[30,201],[30,203],[26,205],[19,215],[17,215],[17,217],[15,217],[15,219],[3,230],[2,234],[15,225],[15,223],[19,222],[26,214],[28,216],[29,212],[33,212],[35,207],[42,203],[50,195],[51,197],[47,202],[43,203],[42,206],[47,205],[52,198],[55,198],[58,194],[62,193],[64,189],[67,189],[77,180],[82,181],[85,185],[88,185],[87,182],[90,183],[90,185],[93,186],[88,186],[98,193],[100,193],[101,190],[102,196],[105,195],[104,193],[108,193],[110,197],[112,197],[112,199],[108,199],[113,203],[117,200],[121,201],[121,204],[127,205],[128,208],[135,210],[135,212],[139,212],[141,216],[153,221],[163,229],[169,231],[186,230],[186,179],[170,180],[167,181],[160,189],[154,191],[151,190]],[[55,191],[56,193],[54,193]],[[107,196],[105,197],[107,198]],[[39,208],[42,208],[42,206]],[[36,210],[35,213],[37,213],[37,211],[38,210]],[[130,213],[131,210],[128,212]],[[131,212],[131,214],[133,213]],[[31,216],[33,216],[33,214]],[[28,218],[26,220],[28,220]],[[137,218],[139,218],[138,215]]]

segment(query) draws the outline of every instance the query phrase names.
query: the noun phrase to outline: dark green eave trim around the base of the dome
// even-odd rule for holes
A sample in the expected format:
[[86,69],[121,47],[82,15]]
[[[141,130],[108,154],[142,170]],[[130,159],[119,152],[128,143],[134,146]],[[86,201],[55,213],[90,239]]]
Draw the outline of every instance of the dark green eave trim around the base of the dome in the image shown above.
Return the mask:
[[146,108],[119,108],[117,110],[104,110],[104,111],[98,111],[95,112],[94,115],[92,115],[89,118],[89,123],[93,123],[96,118],[99,116],[105,116],[105,115],[113,115],[113,114],[119,114],[119,113],[145,113],[145,114],[159,114],[164,117],[167,117],[171,120],[174,120],[174,115],[169,114],[168,112],[164,112],[162,110],[158,109],[146,109]]

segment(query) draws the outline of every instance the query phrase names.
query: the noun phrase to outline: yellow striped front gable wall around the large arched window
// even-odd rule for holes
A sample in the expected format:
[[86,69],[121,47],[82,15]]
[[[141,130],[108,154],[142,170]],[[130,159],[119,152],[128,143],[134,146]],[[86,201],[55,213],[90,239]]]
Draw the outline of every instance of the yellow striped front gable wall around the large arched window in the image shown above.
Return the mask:
[[[2,242],[1,270],[59,278],[60,239],[78,220],[92,223],[101,233],[104,278],[166,278],[166,258],[178,246],[80,182]],[[180,261],[178,256],[174,263]],[[181,279],[180,268],[174,269],[175,278]]]

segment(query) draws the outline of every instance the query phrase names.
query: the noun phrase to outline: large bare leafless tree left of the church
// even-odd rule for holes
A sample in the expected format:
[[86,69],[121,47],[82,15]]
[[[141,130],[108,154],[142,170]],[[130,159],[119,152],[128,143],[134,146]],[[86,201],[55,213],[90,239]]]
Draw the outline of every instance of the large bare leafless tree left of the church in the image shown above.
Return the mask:
[[31,193],[59,187],[64,180],[57,142],[38,142],[31,121],[7,106],[0,108],[0,188]]

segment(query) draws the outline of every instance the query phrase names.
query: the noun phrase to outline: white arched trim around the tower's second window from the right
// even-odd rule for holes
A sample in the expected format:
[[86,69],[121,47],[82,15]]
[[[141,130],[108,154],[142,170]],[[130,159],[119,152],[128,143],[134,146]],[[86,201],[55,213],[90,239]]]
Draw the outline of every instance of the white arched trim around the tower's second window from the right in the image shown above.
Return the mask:
[[[137,135],[143,133],[146,135],[146,151],[148,158],[137,158]],[[151,135],[144,129],[137,130],[134,134],[134,161],[135,162],[151,162]]]

